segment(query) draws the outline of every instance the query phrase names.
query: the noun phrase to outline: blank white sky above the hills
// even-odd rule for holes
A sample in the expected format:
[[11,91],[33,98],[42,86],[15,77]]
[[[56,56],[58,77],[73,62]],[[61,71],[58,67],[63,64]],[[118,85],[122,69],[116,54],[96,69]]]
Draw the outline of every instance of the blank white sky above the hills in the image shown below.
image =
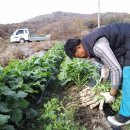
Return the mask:
[[130,0],[0,0],[0,24],[19,23],[56,11],[80,14],[130,13]]

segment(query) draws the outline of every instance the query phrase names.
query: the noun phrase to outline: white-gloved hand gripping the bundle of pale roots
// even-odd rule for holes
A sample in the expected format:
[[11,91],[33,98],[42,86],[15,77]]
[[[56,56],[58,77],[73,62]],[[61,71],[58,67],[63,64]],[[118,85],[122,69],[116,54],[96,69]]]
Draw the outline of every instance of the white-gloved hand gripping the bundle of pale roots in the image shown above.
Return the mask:
[[110,95],[110,92],[100,92],[100,95],[105,97],[105,103],[111,103],[115,101],[115,96]]

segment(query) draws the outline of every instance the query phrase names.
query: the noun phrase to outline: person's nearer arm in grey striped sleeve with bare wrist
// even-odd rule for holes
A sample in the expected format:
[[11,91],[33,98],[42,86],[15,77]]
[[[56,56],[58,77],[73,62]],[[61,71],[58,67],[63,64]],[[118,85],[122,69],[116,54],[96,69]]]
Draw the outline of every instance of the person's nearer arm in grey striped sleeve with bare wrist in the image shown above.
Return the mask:
[[108,40],[100,38],[94,45],[93,51],[97,57],[101,59],[104,65],[108,66],[111,72],[111,90],[110,94],[115,96],[121,83],[122,69],[117,61],[113,51],[109,46]]

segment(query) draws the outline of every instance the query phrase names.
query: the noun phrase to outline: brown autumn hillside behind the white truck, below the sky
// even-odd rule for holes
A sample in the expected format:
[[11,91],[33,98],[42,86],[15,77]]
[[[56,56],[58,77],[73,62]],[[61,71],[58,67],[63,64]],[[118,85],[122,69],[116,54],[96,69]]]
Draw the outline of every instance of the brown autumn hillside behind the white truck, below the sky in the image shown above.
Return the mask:
[[[101,13],[101,25],[111,22],[130,22],[130,14],[127,13]],[[0,37],[9,38],[17,28],[29,28],[37,34],[51,34],[53,40],[61,40],[70,37],[81,37],[89,30],[97,27],[97,13],[78,14],[71,12],[53,12],[40,15],[22,23],[0,25]]]

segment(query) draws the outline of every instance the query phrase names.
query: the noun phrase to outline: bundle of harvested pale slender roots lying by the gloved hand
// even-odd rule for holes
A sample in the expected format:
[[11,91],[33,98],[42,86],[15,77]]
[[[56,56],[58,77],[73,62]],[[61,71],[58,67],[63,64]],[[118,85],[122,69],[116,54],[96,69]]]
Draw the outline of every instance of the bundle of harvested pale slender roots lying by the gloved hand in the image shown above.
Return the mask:
[[90,109],[99,106],[99,110],[103,110],[105,98],[99,97],[100,96],[96,96],[92,93],[91,89],[87,87],[80,92],[81,105],[84,107],[89,106]]

